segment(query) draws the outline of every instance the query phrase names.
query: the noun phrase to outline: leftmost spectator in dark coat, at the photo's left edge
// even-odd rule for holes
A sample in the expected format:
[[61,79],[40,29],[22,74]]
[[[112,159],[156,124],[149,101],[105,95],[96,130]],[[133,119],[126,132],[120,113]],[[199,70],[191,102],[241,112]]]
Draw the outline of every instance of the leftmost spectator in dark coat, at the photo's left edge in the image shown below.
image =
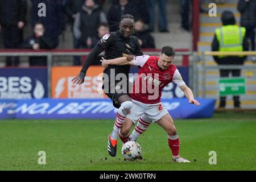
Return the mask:
[[[26,13],[26,0],[0,0],[0,31],[2,31],[5,48],[15,49],[23,42]],[[6,57],[6,66],[17,65],[19,65],[18,57]]]

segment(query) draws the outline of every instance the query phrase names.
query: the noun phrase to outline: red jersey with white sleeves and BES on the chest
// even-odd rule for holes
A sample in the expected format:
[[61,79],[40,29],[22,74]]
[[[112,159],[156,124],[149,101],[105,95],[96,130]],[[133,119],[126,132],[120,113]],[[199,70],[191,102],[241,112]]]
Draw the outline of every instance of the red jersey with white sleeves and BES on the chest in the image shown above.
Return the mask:
[[136,56],[134,64],[141,67],[136,78],[130,97],[133,100],[144,104],[157,104],[161,102],[162,90],[170,82],[177,86],[185,85],[182,77],[174,64],[166,70],[158,67],[159,57],[156,56]]

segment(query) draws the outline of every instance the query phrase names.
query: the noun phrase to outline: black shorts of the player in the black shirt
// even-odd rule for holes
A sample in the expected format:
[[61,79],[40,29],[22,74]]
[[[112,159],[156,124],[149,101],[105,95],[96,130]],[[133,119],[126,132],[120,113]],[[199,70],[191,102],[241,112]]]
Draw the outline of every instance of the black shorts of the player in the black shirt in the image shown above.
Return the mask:
[[103,83],[102,85],[102,90],[104,90],[106,96],[108,96],[113,101],[113,106],[117,109],[121,107],[121,104],[118,102],[118,98],[123,95],[129,95],[129,92],[132,88],[131,82],[127,82],[127,86],[124,85],[126,88],[123,88],[122,86],[123,85],[120,85],[120,82]]

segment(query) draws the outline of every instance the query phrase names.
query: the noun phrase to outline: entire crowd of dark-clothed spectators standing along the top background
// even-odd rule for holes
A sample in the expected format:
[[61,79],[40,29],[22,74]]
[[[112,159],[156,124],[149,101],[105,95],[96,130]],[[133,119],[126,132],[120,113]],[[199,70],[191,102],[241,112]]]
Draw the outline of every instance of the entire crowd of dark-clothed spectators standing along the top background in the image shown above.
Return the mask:
[[[205,2],[200,1],[201,13],[208,11],[203,6]],[[46,6],[43,7],[42,3]],[[5,49],[54,49],[59,46],[60,35],[63,35],[67,26],[71,26],[73,48],[90,49],[102,35],[118,30],[121,15],[131,14],[136,21],[134,35],[141,47],[155,48],[155,40],[151,35],[157,31],[155,27],[158,27],[159,32],[170,32],[167,3],[167,0],[0,0],[1,45]],[[255,3],[254,0],[240,0],[237,6],[241,13],[241,26],[246,28],[246,38],[251,40],[251,50],[255,50]],[[156,4],[158,15],[155,15]],[[191,31],[191,5],[189,0],[180,1],[181,30]],[[39,15],[42,8],[45,8],[46,16]],[[156,26],[155,22],[158,22]],[[35,33],[38,24],[43,26],[40,36]],[[32,35],[24,38],[24,27],[30,29]],[[18,65],[19,57],[6,57],[6,66]],[[46,58],[39,57],[36,60],[36,57],[32,57],[30,65],[46,65]],[[79,56],[74,57],[73,65],[81,65]]]

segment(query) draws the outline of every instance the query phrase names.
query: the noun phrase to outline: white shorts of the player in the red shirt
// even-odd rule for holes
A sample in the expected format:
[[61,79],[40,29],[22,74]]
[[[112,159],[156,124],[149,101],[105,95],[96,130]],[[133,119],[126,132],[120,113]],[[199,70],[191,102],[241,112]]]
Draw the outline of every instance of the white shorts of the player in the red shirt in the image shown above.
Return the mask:
[[144,104],[142,102],[133,100],[133,107],[131,107],[131,113],[128,114],[126,118],[131,119],[131,121],[136,124],[143,114],[145,114],[146,117],[150,118],[152,123],[155,123],[164,115],[169,113],[162,105],[162,102],[158,104]]

